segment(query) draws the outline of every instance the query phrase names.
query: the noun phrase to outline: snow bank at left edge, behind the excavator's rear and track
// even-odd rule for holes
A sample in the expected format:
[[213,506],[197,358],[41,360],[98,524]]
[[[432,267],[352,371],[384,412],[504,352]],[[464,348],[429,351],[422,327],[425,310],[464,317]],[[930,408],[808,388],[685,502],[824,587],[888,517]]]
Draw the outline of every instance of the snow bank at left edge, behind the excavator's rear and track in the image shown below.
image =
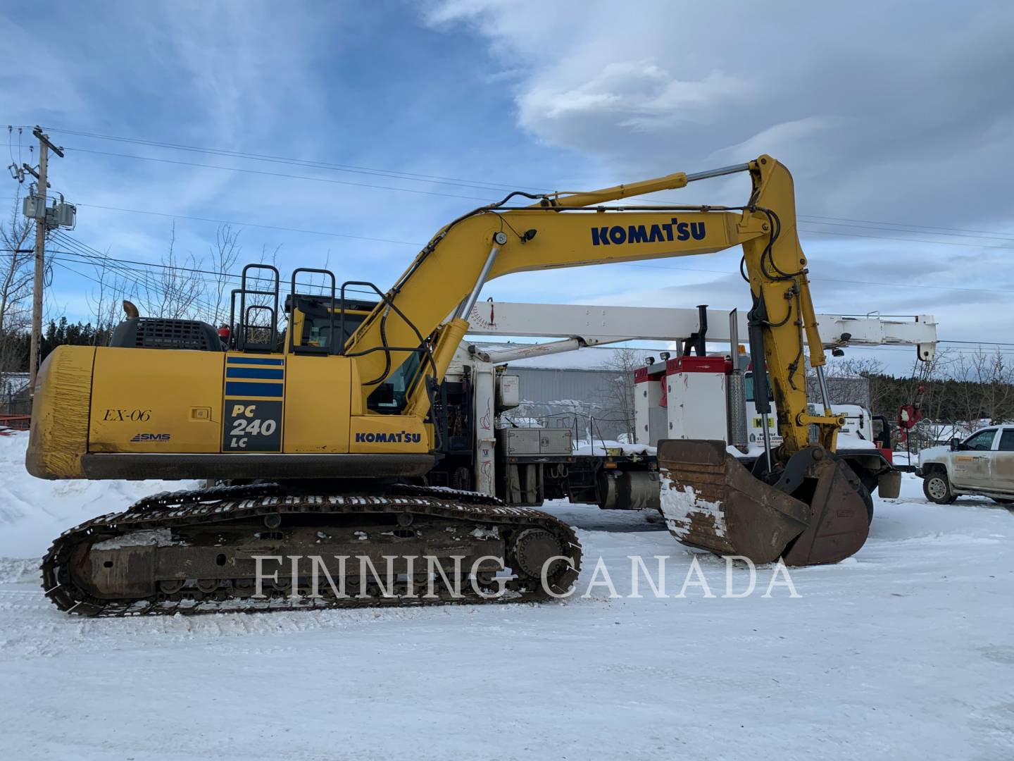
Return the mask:
[[197,481],[45,481],[24,469],[27,432],[0,436],[0,558],[40,558],[63,531]]

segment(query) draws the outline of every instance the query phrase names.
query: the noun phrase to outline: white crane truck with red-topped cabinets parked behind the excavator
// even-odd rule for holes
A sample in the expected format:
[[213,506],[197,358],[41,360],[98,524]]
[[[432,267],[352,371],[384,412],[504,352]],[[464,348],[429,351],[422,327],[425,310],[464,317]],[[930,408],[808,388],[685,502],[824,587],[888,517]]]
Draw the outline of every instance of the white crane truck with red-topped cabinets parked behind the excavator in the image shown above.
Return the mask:
[[[934,356],[936,322],[931,316],[902,322],[818,315],[817,321],[825,348],[916,346],[921,359]],[[511,504],[537,505],[545,498],[567,497],[572,502],[631,509],[657,503],[654,445],[660,438],[724,439],[738,445],[738,456],[747,461],[763,452],[756,440],[749,440],[750,433],[754,439],[757,431],[763,433],[764,420],[752,410],[748,372],[743,367],[738,368],[741,373],[734,372],[733,363],[724,355],[705,353],[706,341],[729,341],[732,355],[738,358],[738,335],[740,330],[745,335],[745,316],[735,310],[730,315],[703,307],[487,301],[476,304],[469,322],[473,336],[557,340],[486,352],[475,347],[469,351],[462,344],[442,390],[439,414],[447,416],[449,435],[444,458],[430,476],[434,483],[495,494]],[[709,324],[715,327],[709,329]],[[643,454],[615,449],[582,456],[573,451],[568,429],[498,425],[500,414],[522,399],[518,376],[506,372],[504,363],[631,340],[675,342],[683,349],[682,356],[665,356],[637,373],[637,443]],[[692,347],[702,355],[686,356]],[[667,374],[669,368],[672,372]],[[663,384],[666,377],[669,380]],[[658,383],[647,383],[651,379]],[[665,392],[673,380],[674,390]],[[663,399],[664,406],[660,404]],[[889,456],[872,442],[869,412],[854,406],[836,411],[847,417],[845,428],[855,429],[852,436],[849,432],[840,436],[840,453],[882,461],[881,470],[889,471]],[[770,430],[777,429],[774,420],[769,419],[768,425]],[[735,431],[730,433],[732,427]],[[850,441],[853,437],[856,446]],[[859,452],[852,453],[852,448]],[[866,486],[872,491],[877,484]]]

